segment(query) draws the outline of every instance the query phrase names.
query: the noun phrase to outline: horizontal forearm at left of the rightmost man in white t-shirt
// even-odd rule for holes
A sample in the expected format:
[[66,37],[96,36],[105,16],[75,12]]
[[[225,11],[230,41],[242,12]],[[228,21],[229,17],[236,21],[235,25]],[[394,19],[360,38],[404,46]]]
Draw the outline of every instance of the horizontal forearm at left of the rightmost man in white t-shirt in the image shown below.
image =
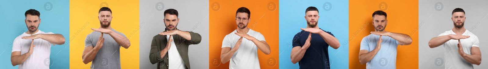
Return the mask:
[[428,46],[430,48],[439,47],[439,46],[441,46],[442,44],[446,43],[449,40],[451,40],[451,37],[449,35],[443,35],[443,36],[434,37],[434,38],[432,38],[432,39],[430,39],[428,41]]

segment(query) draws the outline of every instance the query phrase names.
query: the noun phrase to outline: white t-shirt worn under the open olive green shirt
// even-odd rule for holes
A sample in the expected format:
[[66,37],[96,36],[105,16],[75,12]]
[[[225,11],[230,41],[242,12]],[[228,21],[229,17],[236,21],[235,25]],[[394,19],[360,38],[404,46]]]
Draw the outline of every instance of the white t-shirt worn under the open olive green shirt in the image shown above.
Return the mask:
[[[169,40],[169,35],[166,36],[167,40]],[[173,37],[171,37],[173,39]],[[175,41],[171,41],[171,47],[168,51],[168,69],[186,69],[186,66],[183,62],[183,59],[176,49]]]

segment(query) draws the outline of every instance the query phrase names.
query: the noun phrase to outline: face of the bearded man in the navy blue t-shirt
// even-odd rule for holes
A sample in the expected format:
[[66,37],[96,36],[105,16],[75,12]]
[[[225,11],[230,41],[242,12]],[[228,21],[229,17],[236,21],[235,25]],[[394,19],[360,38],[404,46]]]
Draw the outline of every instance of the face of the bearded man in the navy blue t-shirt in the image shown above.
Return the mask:
[[307,11],[305,13],[306,24],[310,27],[317,26],[319,22],[319,12],[318,11]]

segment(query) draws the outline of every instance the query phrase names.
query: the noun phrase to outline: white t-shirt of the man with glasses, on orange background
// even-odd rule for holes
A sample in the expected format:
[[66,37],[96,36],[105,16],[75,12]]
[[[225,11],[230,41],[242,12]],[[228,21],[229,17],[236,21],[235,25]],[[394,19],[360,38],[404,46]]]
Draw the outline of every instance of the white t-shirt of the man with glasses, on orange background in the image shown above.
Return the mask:
[[[234,30],[234,32],[229,35],[225,35],[224,40],[222,41],[222,48],[234,48],[234,46],[236,46],[236,43],[241,36],[234,33],[237,33],[237,31]],[[261,33],[251,29],[249,29],[247,35],[253,36],[259,41],[266,41]],[[259,66],[258,47],[256,44],[243,37],[239,49],[234,52],[234,55],[232,55],[229,60],[229,69],[261,69]]]

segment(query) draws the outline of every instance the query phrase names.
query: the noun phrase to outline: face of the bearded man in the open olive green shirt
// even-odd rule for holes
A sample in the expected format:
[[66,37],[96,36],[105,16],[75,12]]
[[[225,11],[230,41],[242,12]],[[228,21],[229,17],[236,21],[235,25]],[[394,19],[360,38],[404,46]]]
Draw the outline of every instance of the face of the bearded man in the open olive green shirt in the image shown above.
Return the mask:
[[171,31],[175,30],[176,26],[178,26],[178,23],[180,22],[180,18],[178,18],[176,15],[170,15],[170,14],[164,14],[164,25],[166,25],[166,30]]

